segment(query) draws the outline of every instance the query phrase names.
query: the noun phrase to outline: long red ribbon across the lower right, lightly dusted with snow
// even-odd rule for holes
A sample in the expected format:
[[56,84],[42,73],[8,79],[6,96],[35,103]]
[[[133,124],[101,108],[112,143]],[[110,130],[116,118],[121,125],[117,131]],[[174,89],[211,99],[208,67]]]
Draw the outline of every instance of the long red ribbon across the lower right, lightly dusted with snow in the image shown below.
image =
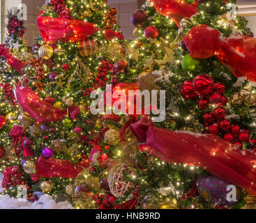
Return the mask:
[[130,125],[130,130],[144,142],[150,155],[172,164],[202,167],[256,195],[256,155],[253,152],[241,151],[212,134],[156,128],[146,116]]

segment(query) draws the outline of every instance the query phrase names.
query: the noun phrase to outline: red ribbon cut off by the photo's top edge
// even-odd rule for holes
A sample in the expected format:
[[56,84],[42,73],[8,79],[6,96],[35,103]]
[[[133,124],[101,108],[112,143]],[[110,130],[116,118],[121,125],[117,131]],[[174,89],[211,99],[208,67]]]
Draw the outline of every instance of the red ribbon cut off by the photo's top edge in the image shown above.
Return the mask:
[[197,7],[191,6],[184,0],[151,0],[151,2],[159,14],[171,17],[178,27],[183,18],[190,18],[197,13]]

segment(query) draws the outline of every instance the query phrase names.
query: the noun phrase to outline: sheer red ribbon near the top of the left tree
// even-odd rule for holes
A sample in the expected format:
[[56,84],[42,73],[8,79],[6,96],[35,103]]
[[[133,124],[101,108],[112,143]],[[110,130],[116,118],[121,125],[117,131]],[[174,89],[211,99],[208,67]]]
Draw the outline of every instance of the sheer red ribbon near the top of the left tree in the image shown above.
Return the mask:
[[64,43],[74,43],[100,30],[95,24],[89,22],[40,16],[42,13],[40,12],[37,17],[37,25],[41,36],[47,43],[55,43],[58,40]]

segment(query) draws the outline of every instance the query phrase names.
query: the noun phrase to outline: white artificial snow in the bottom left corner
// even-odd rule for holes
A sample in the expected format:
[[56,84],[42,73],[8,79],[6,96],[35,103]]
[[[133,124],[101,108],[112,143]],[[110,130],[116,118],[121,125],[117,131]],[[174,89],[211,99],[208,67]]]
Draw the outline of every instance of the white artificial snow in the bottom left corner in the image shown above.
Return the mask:
[[[3,174],[0,174],[0,182]],[[0,184],[0,192],[3,187]],[[48,194],[42,195],[38,201],[22,201],[21,199],[13,199],[8,194],[0,195],[0,209],[74,209],[70,202],[62,201],[56,203],[52,196]]]

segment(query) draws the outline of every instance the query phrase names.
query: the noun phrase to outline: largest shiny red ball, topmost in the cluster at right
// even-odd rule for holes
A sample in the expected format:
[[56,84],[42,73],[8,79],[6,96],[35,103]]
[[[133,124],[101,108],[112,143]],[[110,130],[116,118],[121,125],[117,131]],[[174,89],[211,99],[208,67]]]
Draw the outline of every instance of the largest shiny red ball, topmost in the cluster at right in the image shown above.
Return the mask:
[[213,92],[213,79],[209,75],[198,75],[193,80],[193,89],[199,96],[206,96]]

